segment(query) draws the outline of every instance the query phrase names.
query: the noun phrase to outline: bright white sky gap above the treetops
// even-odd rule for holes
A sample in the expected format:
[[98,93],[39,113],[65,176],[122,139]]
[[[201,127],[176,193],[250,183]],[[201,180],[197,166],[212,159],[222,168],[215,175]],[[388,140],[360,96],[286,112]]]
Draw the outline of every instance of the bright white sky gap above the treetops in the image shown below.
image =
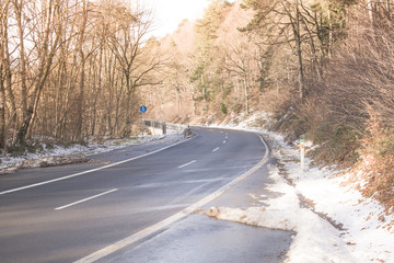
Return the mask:
[[152,8],[154,13],[154,32],[157,37],[165,36],[177,28],[184,20],[194,21],[202,18],[204,10],[209,5],[209,0],[142,0],[147,8]]

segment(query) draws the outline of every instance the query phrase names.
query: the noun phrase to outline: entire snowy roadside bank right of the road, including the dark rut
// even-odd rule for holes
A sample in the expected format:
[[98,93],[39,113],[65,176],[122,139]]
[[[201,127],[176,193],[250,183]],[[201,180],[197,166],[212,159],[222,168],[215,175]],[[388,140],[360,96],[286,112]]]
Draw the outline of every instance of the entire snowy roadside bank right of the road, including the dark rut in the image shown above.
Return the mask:
[[[264,134],[276,165],[269,167],[274,198],[259,196],[260,206],[219,207],[209,216],[246,225],[296,231],[286,262],[394,262],[393,214],[386,216],[378,202],[364,198],[347,175],[328,168],[300,169],[298,149],[277,134],[256,128],[265,116],[230,124],[227,128]],[[221,126],[223,127],[223,126]],[[309,145],[312,147],[312,145]]]

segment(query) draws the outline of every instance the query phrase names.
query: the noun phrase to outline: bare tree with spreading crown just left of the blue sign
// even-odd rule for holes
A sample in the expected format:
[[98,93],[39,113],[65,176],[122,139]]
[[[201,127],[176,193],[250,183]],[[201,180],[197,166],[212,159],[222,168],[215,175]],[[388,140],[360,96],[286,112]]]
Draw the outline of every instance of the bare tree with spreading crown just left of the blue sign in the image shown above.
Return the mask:
[[[141,9],[139,4],[124,5],[113,10],[116,21],[115,34],[108,39],[109,48],[119,62],[123,77],[125,78],[126,119],[124,135],[130,135],[131,102],[138,87],[158,84],[160,81],[152,80],[149,75],[162,64],[157,56],[144,56],[142,46],[147,42],[147,34],[152,24],[149,11]],[[144,57],[143,57],[144,56]]]

